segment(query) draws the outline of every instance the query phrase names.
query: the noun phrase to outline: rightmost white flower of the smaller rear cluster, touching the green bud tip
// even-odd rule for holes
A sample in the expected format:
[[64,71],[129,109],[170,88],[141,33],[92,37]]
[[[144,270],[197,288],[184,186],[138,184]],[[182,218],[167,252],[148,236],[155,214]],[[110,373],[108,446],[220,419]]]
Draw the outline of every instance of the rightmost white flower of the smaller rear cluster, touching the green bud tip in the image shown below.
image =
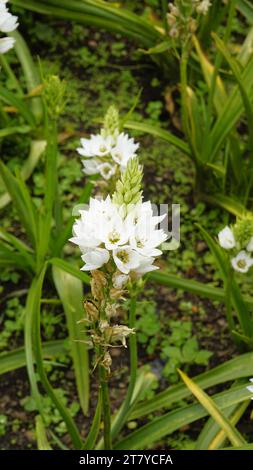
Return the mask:
[[130,158],[136,157],[138,147],[139,144],[135,144],[134,139],[129,139],[127,134],[119,134],[116,145],[111,151],[111,155],[113,160],[120,165],[121,170],[126,168]]

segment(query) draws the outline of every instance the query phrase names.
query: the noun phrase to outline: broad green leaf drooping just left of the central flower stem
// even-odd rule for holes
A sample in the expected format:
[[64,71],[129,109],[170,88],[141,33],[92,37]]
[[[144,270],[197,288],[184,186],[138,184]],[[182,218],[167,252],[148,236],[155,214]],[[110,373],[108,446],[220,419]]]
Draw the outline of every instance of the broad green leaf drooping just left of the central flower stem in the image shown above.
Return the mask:
[[87,346],[83,343],[85,340],[83,328],[78,325],[78,321],[84,318],[82,282],[57,266],[53,266],[53,278],[67,319],[79,401],[84,414],[87,415],[89,357]]

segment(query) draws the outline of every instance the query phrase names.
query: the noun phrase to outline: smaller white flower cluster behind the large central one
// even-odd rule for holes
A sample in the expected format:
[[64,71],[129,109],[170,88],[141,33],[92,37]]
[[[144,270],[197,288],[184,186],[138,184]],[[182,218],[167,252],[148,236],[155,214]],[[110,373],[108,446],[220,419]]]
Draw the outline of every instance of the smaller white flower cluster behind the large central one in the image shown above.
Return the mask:
[[127,134],[91,135],[90,139],[81,139],[78,153],[85,157],[82,160],[83,171],[86,175],[100,174],[109,180],[116,174],[117,169],[124,171],[131,158],[136,157],[139,144]]

